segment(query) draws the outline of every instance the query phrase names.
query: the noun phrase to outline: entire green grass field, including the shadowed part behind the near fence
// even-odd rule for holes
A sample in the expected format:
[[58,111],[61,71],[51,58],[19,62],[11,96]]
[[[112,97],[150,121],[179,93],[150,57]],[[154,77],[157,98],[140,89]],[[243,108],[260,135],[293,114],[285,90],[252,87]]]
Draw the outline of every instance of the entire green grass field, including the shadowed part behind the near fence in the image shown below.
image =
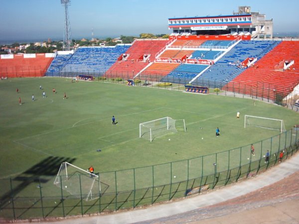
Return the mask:
[[[63,99],[64,92],[68,99]],[[264,164],[259,158],[267,149],[276,153],[298,139],[297,132],[280,136],[276,130],[244,128],[245,114],[283,119],[287,130],[299,123],[299,113],[259,101],[254,106],[252,99],[115,83],[72,83],[65,78],[1,80],[0,94],[0,217],[9,219],[111,211],[184,197],[193,186],[214,183],[214,172],[221,172],[219,184],[224,185],[227,170],[236,175],[242,165],[246,173],[250,161],[252,168]],[[152,142],[139,138],[140,123],[165,116],[185,119],[187,131],[180,128]],[[217,138],[216,127],[221,133]],[[255,145],[255,158],[250,143]],[[100,172],[102,196],[97,202],[84,202],[84,211],[78,198],[53,185],[64,161],[82,169],[93,165]],[[79,194],[79,183],[73,185],[68,189]],[[86,186],[83,190],[88,192]],[[133,189],[137,189],[134,195]],[[115,196],[114,192],[122,193]],[[56,204],[62,194],[69,200]]]

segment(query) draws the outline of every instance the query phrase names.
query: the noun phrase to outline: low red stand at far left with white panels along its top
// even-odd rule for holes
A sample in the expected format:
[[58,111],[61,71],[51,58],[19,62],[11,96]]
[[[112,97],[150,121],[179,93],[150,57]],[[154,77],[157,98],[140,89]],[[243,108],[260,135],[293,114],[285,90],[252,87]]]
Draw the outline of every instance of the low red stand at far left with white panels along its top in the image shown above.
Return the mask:
[[44,76],[53,57],[53,54],[1,55],[0,76],[8,78]]

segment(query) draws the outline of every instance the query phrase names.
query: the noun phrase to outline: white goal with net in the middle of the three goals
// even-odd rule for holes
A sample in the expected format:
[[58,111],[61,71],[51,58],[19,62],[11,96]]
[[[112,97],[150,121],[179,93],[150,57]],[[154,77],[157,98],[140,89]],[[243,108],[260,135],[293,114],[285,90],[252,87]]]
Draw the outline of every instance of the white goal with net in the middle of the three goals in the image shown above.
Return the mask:
[[152,142],[156,137],[163,136],[177,130],[186,131],[184,119],[175,120],[169,116],[139,124],[139,137]]

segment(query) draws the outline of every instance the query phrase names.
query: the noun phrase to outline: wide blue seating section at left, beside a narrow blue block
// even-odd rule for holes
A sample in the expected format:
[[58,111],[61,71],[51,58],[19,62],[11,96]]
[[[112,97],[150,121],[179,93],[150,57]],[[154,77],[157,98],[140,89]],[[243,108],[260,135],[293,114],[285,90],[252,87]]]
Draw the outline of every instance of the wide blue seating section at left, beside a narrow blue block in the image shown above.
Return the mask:
[[100,74],[106,72],[117,58],[126,52],[130,45],[117,45],[113,47],[79,47],[67,61],[60,73],[90,73]]

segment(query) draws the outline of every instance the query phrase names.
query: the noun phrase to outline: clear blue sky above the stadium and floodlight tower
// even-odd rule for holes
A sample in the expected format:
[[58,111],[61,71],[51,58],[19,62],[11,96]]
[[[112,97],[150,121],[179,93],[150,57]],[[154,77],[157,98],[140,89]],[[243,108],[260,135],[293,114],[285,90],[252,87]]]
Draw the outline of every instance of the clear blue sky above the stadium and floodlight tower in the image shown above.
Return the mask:
[[[73,38],[170,33],[168,18],[232,14],[238,6],[273,18],[274,32],[299,31],[299,0],[71,0]],[[63,38],[60,0],[0,0],[0,40]]]

